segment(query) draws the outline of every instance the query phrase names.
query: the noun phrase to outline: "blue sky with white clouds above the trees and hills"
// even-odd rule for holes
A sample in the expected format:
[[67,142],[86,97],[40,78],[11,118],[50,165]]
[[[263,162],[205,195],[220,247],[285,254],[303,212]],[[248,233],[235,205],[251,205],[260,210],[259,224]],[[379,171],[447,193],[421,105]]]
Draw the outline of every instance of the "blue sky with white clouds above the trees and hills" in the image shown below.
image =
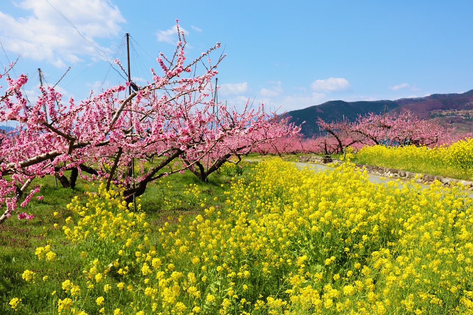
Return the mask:
[[219,100],[240,106],[250,98],[281,113],[328,100],[473,89],[471,12],[467,0],[6,0],[0,8],[0,63],[22,56],[15,72],[30,76],[30,100],[37,95],[37,68],[55,84],[70,66],[58,87],[80,100],[91,89],[124,82],[105,59],[126,60],[126,32],[132,77],[138,83],[151,78],[159,52],[175,47],[179,19],[188,59],[217,41],[225,47]]

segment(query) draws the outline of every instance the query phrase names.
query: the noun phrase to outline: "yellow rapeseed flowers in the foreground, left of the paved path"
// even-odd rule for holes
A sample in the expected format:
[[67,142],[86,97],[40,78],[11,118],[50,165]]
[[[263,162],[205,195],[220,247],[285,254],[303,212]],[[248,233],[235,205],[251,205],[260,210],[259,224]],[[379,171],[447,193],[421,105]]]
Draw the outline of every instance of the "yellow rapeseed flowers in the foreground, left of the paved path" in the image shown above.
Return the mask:
[[[373,184],[349,163],[314,174],[271,159],[227,196],[227,208],[159,235],[119,189],[73,200],[80,219],[63,229],[82,272],[63,282],[55,312],[473,312],[472,200],[460,186]],[[36,254],[60,265],[43,259],[52,248]]]

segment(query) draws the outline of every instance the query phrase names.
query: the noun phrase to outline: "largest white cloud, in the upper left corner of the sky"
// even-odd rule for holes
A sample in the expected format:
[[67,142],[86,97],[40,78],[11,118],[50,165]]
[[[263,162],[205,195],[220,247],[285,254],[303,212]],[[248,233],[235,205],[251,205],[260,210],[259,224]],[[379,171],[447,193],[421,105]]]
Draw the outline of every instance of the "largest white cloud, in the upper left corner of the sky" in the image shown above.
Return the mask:
[[49,0],[49,3],[20,2],[17,6],[27,11],[23,17],[13,17],[0,10],[0,40],[6,50],[62,67],[81,61],[84,55],[97,56],[98,52],[61,14],[104,51],[107,49],[100,47],[96,38],[117,36],[121,32],[120,24],[125,22],[119,9],[108,0]]

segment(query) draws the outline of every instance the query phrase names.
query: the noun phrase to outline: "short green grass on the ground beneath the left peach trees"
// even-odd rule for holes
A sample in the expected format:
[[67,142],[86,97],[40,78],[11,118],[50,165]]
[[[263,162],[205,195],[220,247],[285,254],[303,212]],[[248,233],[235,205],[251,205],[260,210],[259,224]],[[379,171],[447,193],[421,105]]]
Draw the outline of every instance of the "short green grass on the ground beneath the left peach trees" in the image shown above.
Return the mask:
[[[250,172],[251,163],[245,164],[243,177]],[[68,174],[66,174],[68,175]],[[227,176],[228,175],[228,176]],[[186,171],[184,174],[169,175],[148,186],[145,193],[139,197],[142,211],[146,213],[146,220],[150,223],[151,236],[156,239],[158,229],[166,222],[169,230],[180,220],[191,221],[197,214],[203,211],[200,199],[206,199],[206,204],[221,209],[225,201],[225,190],[229,189],[232,172],[212,173],[209,182],[203,183],[194,174]],[[77,181],[75,189],[64,189],[59,184],[55,186],[53,177],[36,179],[34,185],[41,184],[41,190],[37,195],[44,196],[42,200],[33,198],[25,208],[18,208],[19,213],[26,212],[34,214],[32,220],[18,220],[16,213],[0,225],[0,314],[52,314],[56,296],[51,296],[52,291],[62,290],[61,283],[68,279],[70,273],[80,273],[78,253],[74,251],[65,238],[62,226],[65,220],[71,216],[77,219],[77,215],[67,209],[74,196],[78,196],[81,203],[85,204],[87,196],[84,194],[85,185],[87,190],[97,191],[97,185],[90,186],[82,180]],[[198,185],[201,191],[199,198],[185,191]],[[56,216],[54,215],[55,213]],[[54,224],[57,223],[55,227]],[[49,241],[48,241],[49,240]],[[34,251],[37,247],[43,247],[47,243],[56,244],[55,252],[66,256],[65,265],[54,271],[54,281],[47,292],[40,292],[38,285],[26,282],[22,279],[25,270],[44,271],[48,268],[44,259],[39,261]],[[58,245],[59,244],[59,245]],[[51,278],[51,277],[50,277]],[[51,280],[51,279],[50,279]],[[35,282],[42,281],[35,279]],[[21,298],[24,305],[21,310],[14,312],[8,304],[13,297]]]

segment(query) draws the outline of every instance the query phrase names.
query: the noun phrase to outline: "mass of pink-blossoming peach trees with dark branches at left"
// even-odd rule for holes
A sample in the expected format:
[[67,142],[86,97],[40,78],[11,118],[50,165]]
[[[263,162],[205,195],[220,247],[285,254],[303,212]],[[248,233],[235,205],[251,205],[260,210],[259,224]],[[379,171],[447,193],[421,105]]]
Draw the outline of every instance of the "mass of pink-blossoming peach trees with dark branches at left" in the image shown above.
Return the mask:
[[[24,207],[39,191],[38,185],[33,186],[23,199],[38,177],[56,176],[64,187],[73,187],[78,176],[101,179],[107,189],[122,184],[130,202],[149,183],[198,167],[205,157],[221,160],[222,155],[225,158],[268,137],[299,131],[296,126],[282,126],[263,106],[245,107],[238,113],[215,103],[209,97],[211,80],[225,55],[215,61],[210,55],[220,43],[186,63],[186,40],[179,24],[177,28],[179,41],[172,58],[162,53],[157,58],[162,74],[151,69],[152,79],[144,86],[127,82],[91,93],[80,102],[72,98],[64,102],[54,87],[40,87],[38,99],[29,103],[21,92],[28,77],[11,77],[14,63],[5,68],[1,76],[7,88],[0,96],[0,122],[12,120],[18,125],[0,134],[0,204],[4,207],[0,224],[18,203]],[[134,91],[127,93],[130,86]],[[133,178],[134,158],[141,162],[158,158],[158,162],[138,170]],[[70,180],[66,170],[72,170]]]

